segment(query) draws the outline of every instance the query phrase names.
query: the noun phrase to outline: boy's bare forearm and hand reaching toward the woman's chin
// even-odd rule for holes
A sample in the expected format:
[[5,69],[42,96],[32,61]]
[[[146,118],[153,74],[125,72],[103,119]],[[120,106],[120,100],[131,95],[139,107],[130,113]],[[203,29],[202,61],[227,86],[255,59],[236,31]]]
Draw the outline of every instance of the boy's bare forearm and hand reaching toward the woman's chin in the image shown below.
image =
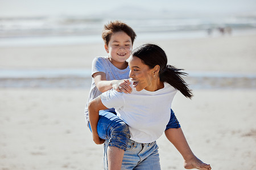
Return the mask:
[[129,80],[106,80],[106,74],[103,72],[97,72],[93,74],[96,87],[101,92],[108,91],[112,88],[118,92],[130,93],[131,87],[129,86]]

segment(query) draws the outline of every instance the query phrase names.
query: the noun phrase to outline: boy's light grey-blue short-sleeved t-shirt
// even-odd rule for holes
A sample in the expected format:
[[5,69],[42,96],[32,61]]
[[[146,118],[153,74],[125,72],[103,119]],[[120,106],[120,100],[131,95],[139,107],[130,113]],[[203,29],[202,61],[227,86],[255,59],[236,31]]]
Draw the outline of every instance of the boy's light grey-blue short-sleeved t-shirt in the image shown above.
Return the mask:
[[[108,57],[96,57],[92,62],[92,75],[98,72],[105,73],[106,80],[122,80],[129,79],[130,69],[127,66],[126,69],[120,70],[109,61]],[[84,111],[87,126],[89,126],[88,103],[101,94],[102,92],[98,90],[92,78],[92,86],[90,87],[89,97]]]

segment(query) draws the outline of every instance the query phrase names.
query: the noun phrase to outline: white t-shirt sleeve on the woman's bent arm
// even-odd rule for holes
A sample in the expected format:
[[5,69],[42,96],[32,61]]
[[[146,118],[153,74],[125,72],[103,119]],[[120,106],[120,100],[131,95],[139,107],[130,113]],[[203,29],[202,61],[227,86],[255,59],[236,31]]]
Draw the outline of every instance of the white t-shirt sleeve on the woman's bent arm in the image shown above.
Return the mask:
[[101,94],[101,102],[107,108],[121,108],[125,104],[123,93],[117,92],[114,89],[108,90]]

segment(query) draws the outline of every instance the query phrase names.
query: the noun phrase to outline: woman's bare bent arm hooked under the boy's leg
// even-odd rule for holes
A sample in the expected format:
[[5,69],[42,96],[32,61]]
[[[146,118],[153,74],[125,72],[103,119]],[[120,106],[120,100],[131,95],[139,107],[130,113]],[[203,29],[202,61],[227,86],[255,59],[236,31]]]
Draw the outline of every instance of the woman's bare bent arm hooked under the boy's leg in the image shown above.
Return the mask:
[[92,129],[93,141],[96,144],[102,144],[105,141],[104,139],[101,139],[100,137],[98,137],[98,133],[97,133],[97,124],[98,124],[98,118],[99,118],[98,112],[100,110],[105,110],[105,109],[108,109],[108,108],[106,108],[105,105],[102,104],[100,96],[90,101],[88,105],[90,128]]

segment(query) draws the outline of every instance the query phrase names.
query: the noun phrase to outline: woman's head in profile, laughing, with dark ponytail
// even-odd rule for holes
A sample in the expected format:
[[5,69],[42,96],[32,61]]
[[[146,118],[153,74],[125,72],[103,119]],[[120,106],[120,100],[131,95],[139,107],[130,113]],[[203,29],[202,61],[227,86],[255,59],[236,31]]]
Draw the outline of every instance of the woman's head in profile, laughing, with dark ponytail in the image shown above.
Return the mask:
[[[167,82],[185,97],[191,98],[193,96],[187,83],[181,78],[182,75],[187,74],[180,72],[182,69],[167,65],[166,53],[158,45],[145,44],[135,49],[131,55],[129,65],[133,68],[130,71],[130,78],[138,81],[140,79],[138,77],[144,76],[143,81],[140,83],[144,84],[142,89],[156,91],[163,88],[163,82]],[[138,86],[137,84],[138,82],[136,86]],[[137,90],[136,88],[137,91],[142,89],[138,87]]]

